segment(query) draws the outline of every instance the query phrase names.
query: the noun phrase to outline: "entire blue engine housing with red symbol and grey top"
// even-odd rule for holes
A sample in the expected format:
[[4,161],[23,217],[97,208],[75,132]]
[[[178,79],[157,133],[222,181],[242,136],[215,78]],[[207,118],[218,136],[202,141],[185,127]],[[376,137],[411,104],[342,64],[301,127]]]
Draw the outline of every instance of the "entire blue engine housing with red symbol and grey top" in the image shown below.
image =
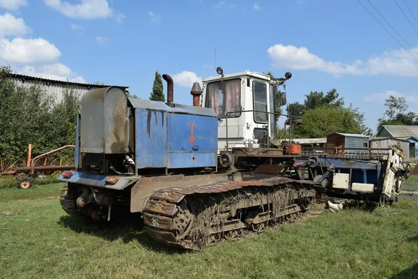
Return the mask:
[[217,114],[212,109],[130,99],[135,108],[138,169],[215,167]]

